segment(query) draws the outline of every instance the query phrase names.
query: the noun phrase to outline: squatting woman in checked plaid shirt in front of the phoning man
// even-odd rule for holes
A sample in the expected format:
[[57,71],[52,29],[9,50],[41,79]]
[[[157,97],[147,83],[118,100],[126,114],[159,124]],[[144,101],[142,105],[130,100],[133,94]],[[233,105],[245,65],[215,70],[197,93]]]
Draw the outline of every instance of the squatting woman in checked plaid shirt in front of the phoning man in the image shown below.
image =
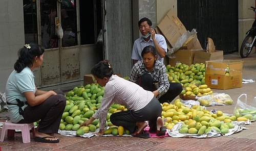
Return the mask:
[[163,63],[157,61],[154,46],[144,47],[141,56],[143,60],[134,64],[129,80],[145,90],[152,91],[160,103],[172,102],[181,93],[181,84],[168,82],[166,68]]

